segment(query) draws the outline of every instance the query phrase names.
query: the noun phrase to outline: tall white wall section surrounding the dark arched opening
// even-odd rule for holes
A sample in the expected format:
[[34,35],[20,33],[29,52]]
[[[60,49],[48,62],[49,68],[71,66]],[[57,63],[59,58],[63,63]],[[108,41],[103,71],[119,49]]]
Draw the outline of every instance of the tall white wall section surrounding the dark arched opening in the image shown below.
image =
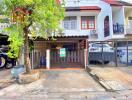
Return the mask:
[[[101,12],[97,18],[97,33],[99,34],[98,40],[103,41],[110,39],[113,35],[113,22],[112,22],[112,9],[111,6],[103,1],[99,1],[98,6],[101,8]],[[110,36],[104,37],[104,19],[106,16],[109,16],[109,27],[110,27]]]

